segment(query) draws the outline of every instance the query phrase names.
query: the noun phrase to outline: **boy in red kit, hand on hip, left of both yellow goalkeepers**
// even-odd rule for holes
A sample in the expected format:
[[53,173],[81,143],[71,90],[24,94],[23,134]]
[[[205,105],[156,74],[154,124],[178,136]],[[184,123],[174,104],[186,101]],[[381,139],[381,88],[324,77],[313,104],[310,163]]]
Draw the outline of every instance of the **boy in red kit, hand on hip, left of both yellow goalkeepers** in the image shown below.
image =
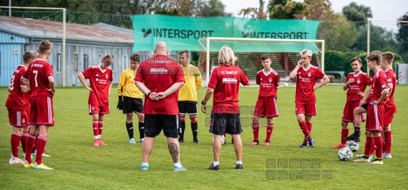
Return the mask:
[[[92,128],[94,129],[94,147],[107,144],[101,140],[102,128],[104,126],[104,115],[109,113],[108,97],[112,88],[112,57],[108,54],[101,60],[101,64],[91,66],[78,74],[80,82],[85,89],[90,91],[88,99],[89,113],[92,115]],[[90,87],[87,86],[85,79],[90,80]]]

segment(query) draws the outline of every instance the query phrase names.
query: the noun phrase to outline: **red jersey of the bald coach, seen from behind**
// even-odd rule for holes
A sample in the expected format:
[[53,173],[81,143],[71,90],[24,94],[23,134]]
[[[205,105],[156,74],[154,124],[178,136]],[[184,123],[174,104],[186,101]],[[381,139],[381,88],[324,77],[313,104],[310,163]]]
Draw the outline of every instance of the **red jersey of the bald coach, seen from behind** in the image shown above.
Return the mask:
[[[183,68],[174,59],[156,55],[137,68],[135,81],[143,82],[151,92],[164,92],[176,82],[185,82]],[[178,115],[178,91],[160,101],[145,98],[145,114]]]

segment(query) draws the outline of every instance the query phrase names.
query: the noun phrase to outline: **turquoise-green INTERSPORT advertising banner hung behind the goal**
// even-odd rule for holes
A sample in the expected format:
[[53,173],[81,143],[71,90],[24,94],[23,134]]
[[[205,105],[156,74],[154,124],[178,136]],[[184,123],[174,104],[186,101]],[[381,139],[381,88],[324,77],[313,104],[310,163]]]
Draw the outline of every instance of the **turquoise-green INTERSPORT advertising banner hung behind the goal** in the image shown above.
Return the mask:
[[[132,24],[133,52],[154,50],[155,44],[159,41],[166,42],[169,50],[172,51],[198,52],[199,38],[206,37],[314,40],[319,22],[255,20],[237,17],[134,15]],[[251,46],[248,46],[248,52],[253,52]]]

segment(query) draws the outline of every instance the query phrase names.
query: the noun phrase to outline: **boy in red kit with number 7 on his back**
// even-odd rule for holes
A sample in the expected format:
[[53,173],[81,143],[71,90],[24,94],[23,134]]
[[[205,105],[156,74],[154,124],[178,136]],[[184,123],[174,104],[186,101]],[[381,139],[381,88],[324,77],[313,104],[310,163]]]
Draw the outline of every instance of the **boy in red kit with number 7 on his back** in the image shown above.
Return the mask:
[[[38,47],[40,56],[29,65],[21,78],[24,85],[31,89],[30,131],[27,138],[24,167],[31,167],[36,170],[54,170],[44,165],[42,156],[47,143],[48,129],[50,126],[54,126],[52,97],[55,94],[55,80],[51,64],[45,61],[50,57],[51,48],[52,43],[50,41],[41,41]],[[31,151],[37,135],[36,149],[37,155],[40,156],[36,156],[36,163],[34,164],[31,162]]]

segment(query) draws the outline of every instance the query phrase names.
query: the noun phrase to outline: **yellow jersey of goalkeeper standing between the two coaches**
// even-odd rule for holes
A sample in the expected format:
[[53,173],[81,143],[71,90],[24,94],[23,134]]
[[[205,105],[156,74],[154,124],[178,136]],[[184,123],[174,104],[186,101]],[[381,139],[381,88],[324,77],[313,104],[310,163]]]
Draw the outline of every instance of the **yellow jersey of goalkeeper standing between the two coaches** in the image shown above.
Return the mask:
[[178,101],[197,102],[197,92],[202,85],[201,73],[199,73],[197,66],[192,64],[181,67],[183,68],[185,83],[183,87],[178,89]]

